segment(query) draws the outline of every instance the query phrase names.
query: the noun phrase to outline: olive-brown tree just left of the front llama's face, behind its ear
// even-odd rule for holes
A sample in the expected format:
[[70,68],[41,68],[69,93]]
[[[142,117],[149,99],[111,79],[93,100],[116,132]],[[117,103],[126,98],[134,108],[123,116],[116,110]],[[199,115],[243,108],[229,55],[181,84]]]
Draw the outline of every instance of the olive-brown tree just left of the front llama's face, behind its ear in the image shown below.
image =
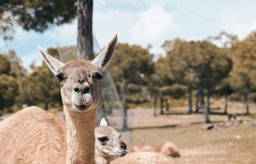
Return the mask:
[[[58,58],[58,50],[55,48],[48,48],[47,52]],[[49,105],[60,106],[61,94],[56,77],[52,75],[45,63],[42,66],[31,66],[31,68],[33,72],[22,82],[23,103],[28,105],[44,103],[45,110],[48,110]]]

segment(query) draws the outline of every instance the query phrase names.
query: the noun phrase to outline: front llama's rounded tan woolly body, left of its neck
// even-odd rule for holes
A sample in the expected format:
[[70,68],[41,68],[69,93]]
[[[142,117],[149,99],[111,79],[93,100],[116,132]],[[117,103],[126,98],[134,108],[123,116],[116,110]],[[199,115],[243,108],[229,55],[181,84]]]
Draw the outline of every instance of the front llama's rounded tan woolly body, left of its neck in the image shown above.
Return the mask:
[[65,163],[66,133],[61,118],[24,108],[0,124],[0,163]]

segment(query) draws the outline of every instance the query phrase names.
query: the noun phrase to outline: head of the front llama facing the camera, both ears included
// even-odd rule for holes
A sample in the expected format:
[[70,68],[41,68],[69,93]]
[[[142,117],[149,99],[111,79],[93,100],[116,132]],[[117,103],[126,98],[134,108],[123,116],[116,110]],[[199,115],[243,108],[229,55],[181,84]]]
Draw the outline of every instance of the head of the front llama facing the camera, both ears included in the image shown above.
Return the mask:
[[92,62],[79,59],[62,63],[38,46],[45,63],[58,78],[63,105],[68,110],[86,112],[90,107],[96,107],[99,99],[98,84],[102,79],[102,71],[115,51],[116,42],[115,35]]

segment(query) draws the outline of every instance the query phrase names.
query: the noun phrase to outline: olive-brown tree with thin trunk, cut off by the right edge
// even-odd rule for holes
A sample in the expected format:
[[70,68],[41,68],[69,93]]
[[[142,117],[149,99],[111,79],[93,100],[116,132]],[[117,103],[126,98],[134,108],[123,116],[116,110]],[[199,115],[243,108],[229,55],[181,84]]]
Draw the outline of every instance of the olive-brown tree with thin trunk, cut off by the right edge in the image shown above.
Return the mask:
[[244,96],[246,114],[250,114],[248,94],[256,91],[256,32],[253,31],[244,40],[232,46],[234,69],[232,70],[232,88]]

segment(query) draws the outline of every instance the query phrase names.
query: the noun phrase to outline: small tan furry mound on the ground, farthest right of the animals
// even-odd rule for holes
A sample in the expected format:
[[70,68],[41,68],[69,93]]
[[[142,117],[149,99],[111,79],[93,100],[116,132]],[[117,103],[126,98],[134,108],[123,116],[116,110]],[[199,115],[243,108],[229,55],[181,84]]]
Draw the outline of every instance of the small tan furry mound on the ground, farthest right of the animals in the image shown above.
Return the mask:
[[170,141],[167,141],[162,145],[161,153],[164,154],[164,156],[180,157],[177,145]]

